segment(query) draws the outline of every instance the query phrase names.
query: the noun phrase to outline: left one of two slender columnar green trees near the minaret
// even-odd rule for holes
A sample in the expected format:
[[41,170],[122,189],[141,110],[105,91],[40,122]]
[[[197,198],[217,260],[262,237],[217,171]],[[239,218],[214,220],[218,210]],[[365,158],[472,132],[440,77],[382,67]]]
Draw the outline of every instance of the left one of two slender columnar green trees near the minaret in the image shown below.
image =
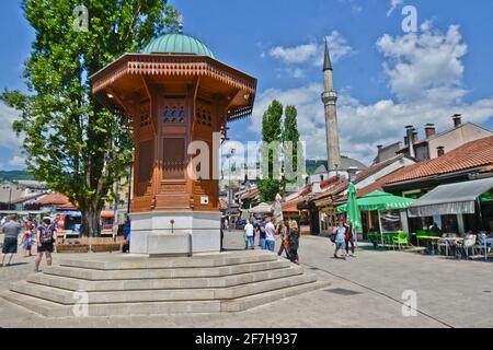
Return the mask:
[[262,201],[274,201],[280,191],[279,162],[280,142],[283,136],[283,105],[274,100],[265,110],[262,119],[262,173],[259,182]]

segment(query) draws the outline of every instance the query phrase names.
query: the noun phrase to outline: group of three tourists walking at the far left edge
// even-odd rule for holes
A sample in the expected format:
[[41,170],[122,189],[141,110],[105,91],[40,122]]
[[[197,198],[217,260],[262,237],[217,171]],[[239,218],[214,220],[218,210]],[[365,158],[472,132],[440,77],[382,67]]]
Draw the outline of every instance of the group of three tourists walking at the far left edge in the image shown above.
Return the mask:
[[[51,253],[57,241],[56,224],[51,223],[49,218],[43,219],[37,224],[35,220],[27,219],[20,220],[16,215],[10,215],[2,220],[3,246],[2,246],[2,261],[0,267],[9,267],[12,264],[12,258],[18,254],[18,248],[22,246],[25,252],[25,257],[32,256],[32,248],[37,247],[37,256],[34,260],[35,271],[39,271],[39,264],[43,256],[46,255],[46,262],[51,266]],[[24,233],[19,243],[19,237],[22,231]],[[7,264],[5,264],[7,260]]]

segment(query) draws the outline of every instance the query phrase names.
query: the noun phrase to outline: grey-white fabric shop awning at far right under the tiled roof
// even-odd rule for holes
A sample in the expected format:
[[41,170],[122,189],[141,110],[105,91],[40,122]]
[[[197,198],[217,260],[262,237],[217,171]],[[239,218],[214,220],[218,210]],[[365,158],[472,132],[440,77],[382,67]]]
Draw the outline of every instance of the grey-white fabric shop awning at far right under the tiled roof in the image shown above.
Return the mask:
[[479,197],[493,188],[493,177],[442,185],[417,199],[408,212],[411,218],[473,214]]

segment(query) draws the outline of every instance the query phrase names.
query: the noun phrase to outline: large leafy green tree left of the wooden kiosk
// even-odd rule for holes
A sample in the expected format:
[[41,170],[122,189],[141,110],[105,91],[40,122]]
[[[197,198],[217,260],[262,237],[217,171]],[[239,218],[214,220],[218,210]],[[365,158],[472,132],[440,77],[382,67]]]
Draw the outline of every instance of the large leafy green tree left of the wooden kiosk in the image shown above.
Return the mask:
[[27,170],[67,195],[82,212],[83,234],[100,233],[99,218],[117,178],[131,162],[124,116],[108,113],[91,94],[90,77],[125,52],[176,27],[167,0],[84,0],[87,31],[77,31],[80,0],[23,0],[35,31],[24,79],[30,93],[1,98],[21,112]]

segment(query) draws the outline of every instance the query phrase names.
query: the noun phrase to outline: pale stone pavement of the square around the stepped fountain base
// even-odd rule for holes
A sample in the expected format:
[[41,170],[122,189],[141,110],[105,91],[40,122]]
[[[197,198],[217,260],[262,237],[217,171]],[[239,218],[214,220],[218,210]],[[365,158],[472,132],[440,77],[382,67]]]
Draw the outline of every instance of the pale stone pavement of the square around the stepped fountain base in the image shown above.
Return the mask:
[[[227,232],[225,247],[241,249],[241,234]],[[236,314],[46,319],[0,300],[1,327],[493,327],[493,264],[456,261],[362,245],[355,258],[332,258],[328,238],[303,236],[300,262],[332,284],[273,300]],[[22,253],[14,266],[0,268],[0,290],[24,280],[33,259]],[[56,259],[56,256],[55,256]],[[404,291],[416,294],[417,315],[402,314]]]

